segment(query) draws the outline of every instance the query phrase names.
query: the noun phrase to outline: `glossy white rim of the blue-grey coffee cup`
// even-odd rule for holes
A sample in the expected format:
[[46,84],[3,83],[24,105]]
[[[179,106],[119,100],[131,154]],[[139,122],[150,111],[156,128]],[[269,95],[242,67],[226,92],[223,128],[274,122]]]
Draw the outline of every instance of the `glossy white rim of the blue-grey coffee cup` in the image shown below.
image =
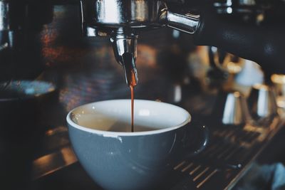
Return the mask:
[[[98,101],[98,102],[112,102],[112,101],[122,101],[122,100],[130,100],[130,99],[103,100],[103,101]],[[93,105],[95,103],[98,103],[98,102],[90,102],[88,104],[78,106],[78,107],[74,108],[73,110],[71,110],[70,112],[68,112],[68,115],[66,116],[66,121],[68,122],[68,124],[71,127],[74,127],[74,128],[76,128],[78,130],[82,130],[82,131],[85,131],[85,132],[90,132],[90,133],[93,133],[93,134],[103,135],[103,137],[140,136],[140,135],[144,135],[145,136],[145,135],[152,135],[152,134],[160,134],[160,133],[163,133],[163,132],[176,130],[176,129],[180,128],[180,127],[183,127],[183,126],[187,125],[187,123],[191,122],[191,115],[190,115],[190,113],[187,110],[185,110],[184,108],[179,107],[177,105],[172,105],[172,104],[166,103],[166,102],[157,102],[157,101],[154,101],[154,100],[135,99],[135,101],[156,102],[156,103],[160,103],[160,104],[171,105],[173,107],[177,107],[177,108],[181,109],[182,111],[186,112],[187,113],[187,117],[185,118],[185,120],[182,123],[180,123],[178,125],[175,125],[175,126],[172,126],[172,127],[162,128],[162,129],[159,129],[159,130],[151,130],[151,131],[143,131],[143,132],[111,132],[111,131],[95,130],[95,129],[90,129],[88,127],[83,127],[81,125],[78,125],[75,122],[73,122],[73,120],[71,120],[71,113],[74,110],[77,110],[78,108],[81,108],[81,107],[85,107],[85,106],[88,106],[88,105]]]

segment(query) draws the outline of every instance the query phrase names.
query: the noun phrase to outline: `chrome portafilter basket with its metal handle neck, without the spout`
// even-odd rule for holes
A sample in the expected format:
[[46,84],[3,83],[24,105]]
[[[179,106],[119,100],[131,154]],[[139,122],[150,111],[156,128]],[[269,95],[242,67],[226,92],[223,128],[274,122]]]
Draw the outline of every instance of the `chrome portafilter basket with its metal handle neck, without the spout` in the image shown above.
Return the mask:
[[[116,33],[118,28],[124,28],[126,33],[138,33],[162,26],[195,33],[199,23],[198,15],[173,13],[164,1],[157,0],[84,0],[81,11],[86,36],[105,36],[105,33]],[[93,32],[88,32],[91,28]]]

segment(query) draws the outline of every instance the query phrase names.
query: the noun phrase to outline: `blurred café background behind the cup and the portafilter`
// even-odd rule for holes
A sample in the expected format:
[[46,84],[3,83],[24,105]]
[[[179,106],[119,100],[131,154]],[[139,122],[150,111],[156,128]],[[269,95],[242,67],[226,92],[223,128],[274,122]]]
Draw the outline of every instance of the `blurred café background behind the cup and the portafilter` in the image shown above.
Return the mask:
[[[254,26],[266,33],[285,26],[282,0],[169,3],[197,13],[209,6],[241,31]],[[66,115],[88,102],[130,98],[130,89],[110,38],[83,37],[81,27],[77,1],[0,1],[3,189],[100,189],[72,151]],[[274,70],[278,67],[268,61],[261,67],[219,47],[197,46],[193,35],[172,28],[140,33],[136,65],[135,99],[184,107],[210,130],[204,153],[182,159],[170,184],[163,185],[285,189],[285,70]],[[252,179],[250,171],[267,176]],[[257,186],[259,181],[264,184]]]

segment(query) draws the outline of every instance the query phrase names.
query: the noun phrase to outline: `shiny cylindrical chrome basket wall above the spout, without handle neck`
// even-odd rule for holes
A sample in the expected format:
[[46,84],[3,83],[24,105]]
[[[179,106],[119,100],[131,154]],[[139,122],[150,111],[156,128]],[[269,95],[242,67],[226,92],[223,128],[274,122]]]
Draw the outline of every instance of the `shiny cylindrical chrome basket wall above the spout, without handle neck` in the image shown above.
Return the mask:
[[[91,26],[120,28],[149,27],[157,24],[157,15],[165,7],[163,1],[135,0],[84,0],[83,21],[90,21]],[[160,26],[160,24],[158,24]]]

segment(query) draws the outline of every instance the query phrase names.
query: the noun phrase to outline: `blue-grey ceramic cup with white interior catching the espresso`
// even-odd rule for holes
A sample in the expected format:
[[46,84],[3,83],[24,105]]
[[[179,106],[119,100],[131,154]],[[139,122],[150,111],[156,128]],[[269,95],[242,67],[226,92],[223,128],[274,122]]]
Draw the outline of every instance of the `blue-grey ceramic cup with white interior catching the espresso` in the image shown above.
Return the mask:
[[76,107],[67,115],[79,162],[103,189],[157,189],[183,157],[201,152],[207,128],[181,107],[135,100],[106,100]]

